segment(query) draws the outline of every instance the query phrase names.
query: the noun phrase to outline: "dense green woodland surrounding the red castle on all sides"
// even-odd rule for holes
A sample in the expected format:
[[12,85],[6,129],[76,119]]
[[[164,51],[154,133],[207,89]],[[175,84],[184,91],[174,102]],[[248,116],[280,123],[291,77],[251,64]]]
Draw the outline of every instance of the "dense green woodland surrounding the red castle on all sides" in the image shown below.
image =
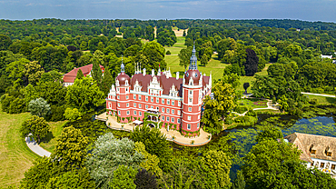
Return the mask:
[[[179,30],[183,36],[175,35]],[[193,46],[200,69],[214,58],[225,65],[212,82],[213,98],[203,101],[209,144],[181,146],[145,125],[128,133],[93,119],[106,111],[105,97],[122,62],[130,76],[136,63],[155,72],[159,65],[168,68],[166,48],[179,37],[185,40],[177,55],[183,69]],[[20,182],[5,186],[336,188],[329,174],[306,169],[301,152],[282,140],[283,129],[295,124],[283,117],[336,110],[334,102],[319,104],[301,94],[335,94],[335,47],[336,24],[299,20],[0,20],[1,114],[25,117],[15,129],[21,142],[32,134],[39,144],[48,143],[53,123],[63,123],[51,157],[30,160]],[[64,74],[90,64],[92,77],[78,72],[74,85],[64,87]],[[249,82],[242,84],[242,77]],[[253,97],[280,110],[243,106],[239,88],[250,84]],[[237,117],[233,111],[248,113]],[[240,126],[242,133],[229,132]]]

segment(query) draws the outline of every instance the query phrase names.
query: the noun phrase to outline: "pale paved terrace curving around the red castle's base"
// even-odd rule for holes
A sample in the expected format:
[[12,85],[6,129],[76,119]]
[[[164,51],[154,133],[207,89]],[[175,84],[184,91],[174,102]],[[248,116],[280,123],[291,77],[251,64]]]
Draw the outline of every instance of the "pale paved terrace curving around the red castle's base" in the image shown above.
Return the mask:
[[[105,121],[106,125],[114,130],[123,130],[127,132],[133,132],[135,129],[135,124],[121,124],[117,122],[115,116],[99,114],[96,116],[96,119]],[[187,145],[187,146],[199,146],[207,144],[212,140],[212,134],[208,134],[203,129],[200,129],[200,135],[194,138],[188,138],[183,136],[180,132],[170,129],[167,131],[166,128],[160,128],[160,131],[165,135],[168,141],[173,141],[176,144]]]

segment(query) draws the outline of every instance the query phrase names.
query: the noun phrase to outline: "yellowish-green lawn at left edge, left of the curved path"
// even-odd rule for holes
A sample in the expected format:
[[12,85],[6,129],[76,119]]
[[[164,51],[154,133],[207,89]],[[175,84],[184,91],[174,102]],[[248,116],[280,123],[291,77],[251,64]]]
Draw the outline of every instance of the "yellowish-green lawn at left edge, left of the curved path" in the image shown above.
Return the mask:
[[25,171],[39,158],[29,150],[20,136],[21,124],[29,113],[5,114],[0,111],[0,188],[18,186],[25,177]]

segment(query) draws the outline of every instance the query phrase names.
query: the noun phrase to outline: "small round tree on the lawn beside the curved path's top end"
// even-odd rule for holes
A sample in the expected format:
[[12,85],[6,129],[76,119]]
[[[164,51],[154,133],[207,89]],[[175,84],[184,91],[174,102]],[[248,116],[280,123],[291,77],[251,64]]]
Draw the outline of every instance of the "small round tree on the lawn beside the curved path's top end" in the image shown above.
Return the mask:
[[41,138],[44,138],[50,130],[50,125],[46,123],[43,117],[33,115],[31,118],[25,120],[21,125],[20,132],[23,137],[32,134],[37,143],[40,143]]

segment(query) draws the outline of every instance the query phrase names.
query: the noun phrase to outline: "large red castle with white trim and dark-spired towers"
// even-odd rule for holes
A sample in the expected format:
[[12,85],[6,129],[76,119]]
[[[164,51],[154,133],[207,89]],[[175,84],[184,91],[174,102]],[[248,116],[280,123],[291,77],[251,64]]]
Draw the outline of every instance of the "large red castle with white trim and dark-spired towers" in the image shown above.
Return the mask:
[[139,65],[130,78],[124,73],[122,63],[121,73],[106,98],[107,113],[116,115],[121,123],[138,120],[178,130],[183,135],[198,135],[203,98],[212,91],[212,75],[200,73],[195,54],[193,47],[189,69],[183,78],[179,78],[178,72],[176,77],[170,71],[161,72],[160,67],[157,75],[154,70],[152,75],[147,75]]

